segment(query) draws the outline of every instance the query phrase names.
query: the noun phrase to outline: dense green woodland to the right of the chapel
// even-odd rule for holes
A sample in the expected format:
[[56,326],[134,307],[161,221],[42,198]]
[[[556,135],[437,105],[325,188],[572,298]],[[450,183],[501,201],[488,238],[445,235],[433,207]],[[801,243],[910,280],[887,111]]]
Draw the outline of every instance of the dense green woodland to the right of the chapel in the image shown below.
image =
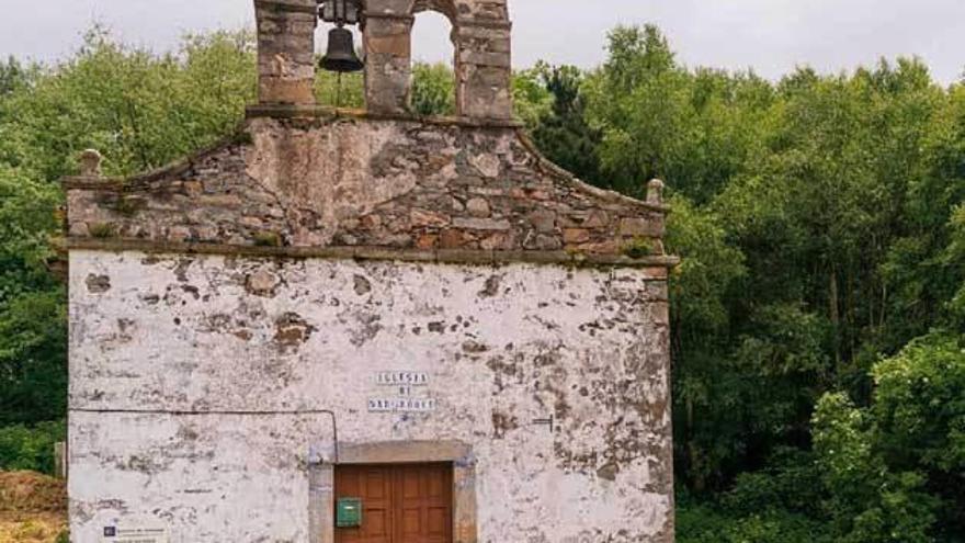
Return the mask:
[[587,176],[673,192],[681,541],[965,538],[965,87],[686,69],[644,27],[579,88]]

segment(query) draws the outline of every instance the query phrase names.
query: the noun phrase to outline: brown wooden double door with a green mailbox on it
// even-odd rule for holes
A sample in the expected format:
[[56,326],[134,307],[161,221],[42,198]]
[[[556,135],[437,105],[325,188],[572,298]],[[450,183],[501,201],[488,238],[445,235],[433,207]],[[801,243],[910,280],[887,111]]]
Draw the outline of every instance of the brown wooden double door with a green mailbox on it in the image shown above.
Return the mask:
[[362,525],[336,543],[453,543],[452,464],[337,466],[334,494],[362,500]]

